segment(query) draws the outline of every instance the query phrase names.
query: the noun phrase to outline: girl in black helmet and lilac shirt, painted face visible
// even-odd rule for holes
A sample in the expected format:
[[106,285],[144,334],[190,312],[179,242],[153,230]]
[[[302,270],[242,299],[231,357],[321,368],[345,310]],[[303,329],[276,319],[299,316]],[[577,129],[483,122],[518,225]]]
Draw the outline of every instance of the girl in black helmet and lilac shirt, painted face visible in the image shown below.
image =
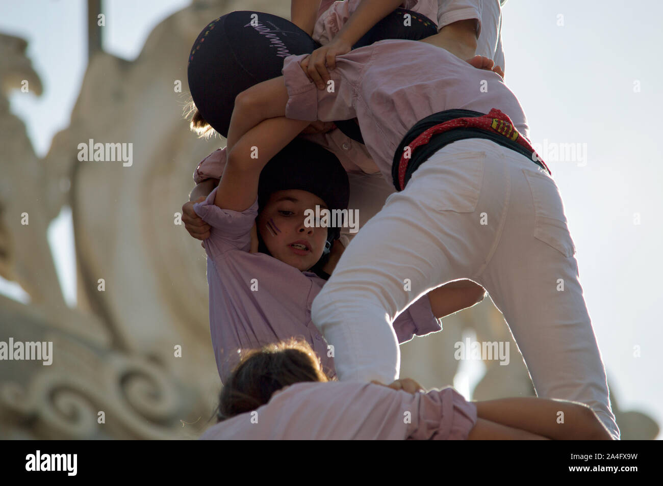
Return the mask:
[[[194,205],[210,225],[210,237],[204,241],[210,334],[224,383],[244,352],[292,336],[306,340],[321,356],[324,371],[330,377],[335,375],[333,350],[312,324],[310,309],[328,277],[323,265],[335,253],[325,254],[325,247],[339,245],[335,241],[339,228],[328,228],[329,232],[306,228],[303,213],[315,204],[345,209],[347,175],[333,154],[306,140],[294,140],[270,159],[264,170],[248,177],[243,173],[242,187],[255,187],[245,203],[238,205],[231,199],[238,182],[233,182],[237,177],[228,171],[222,181],[232,189],[219,186]],[[251,252],[254,226],[258,229],[257,252]],[[297,242],[306,249],[291,248]],[[440,308],[436,311],[440,313]],[[414,334],[436,332],[441,326],[424,296],[398,316],[394,329],[405,342]]]

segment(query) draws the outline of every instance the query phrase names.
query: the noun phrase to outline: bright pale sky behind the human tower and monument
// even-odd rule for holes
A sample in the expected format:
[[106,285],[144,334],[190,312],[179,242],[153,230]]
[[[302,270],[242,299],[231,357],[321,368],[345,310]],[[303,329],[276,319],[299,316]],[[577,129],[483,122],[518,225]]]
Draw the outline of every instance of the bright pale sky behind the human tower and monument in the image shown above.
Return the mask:
[[[133,60],[152,28],[189,2],[103,3],[104,48]],[[34,150],[48,151],[66,128],[87,62],[86,2],[23,1],[0,6],[0,32],[29,40],[44,95],[16,92],[11,111],[27,124]],[[658,275],[663,271],[663,2],[509,0],[504,9],[506,81],[525,109],[533,142],[564,199],[585,299],[621,409],[663,424],[663,342]],[[559,144],[575,161],[555,161]],[[579,144],[579,145],[576,145]],[[564,149],[562,148],[562,152]],[[638,224],[639,223],[639,224]],[[51,234],[69,302],[75,301],[70,217]],[[20,291],[0,282],[0,291]],[[634,357],[634,347],[640,357]]]

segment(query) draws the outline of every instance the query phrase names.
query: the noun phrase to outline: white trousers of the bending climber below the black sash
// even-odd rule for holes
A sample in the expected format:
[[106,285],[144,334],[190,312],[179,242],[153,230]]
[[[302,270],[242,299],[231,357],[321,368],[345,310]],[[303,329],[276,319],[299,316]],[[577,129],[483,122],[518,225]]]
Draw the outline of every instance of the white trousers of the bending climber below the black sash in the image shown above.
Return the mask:
[[333,345],[339,379],[391,383],[394,318],[430,289],[472,279],[505,316],[536,393],[589,405],[618,438],[574,254],[548,173],[494,142],[460,140],[357,233],[312,319]]

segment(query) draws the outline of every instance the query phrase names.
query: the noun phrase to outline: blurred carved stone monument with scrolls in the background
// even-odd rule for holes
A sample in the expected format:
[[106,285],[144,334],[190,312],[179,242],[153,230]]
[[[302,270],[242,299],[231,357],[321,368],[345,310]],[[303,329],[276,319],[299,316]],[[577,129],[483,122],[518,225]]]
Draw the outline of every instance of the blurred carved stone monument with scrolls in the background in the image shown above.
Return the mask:
[[[135,61],[101,50],[68,128],[34,154],[7,95],[40,95],[27,42],[0,34],[0,275],[29,303],[0,295],[0,341],[52,342],[52,364],[0,362],[0,438],[197,438],[213,420],[220,382],[210,343],[206,261],[178,224],[197,162],[225,140],[188,130],[186,58],[211,19],[233,10],[289,17],[287,0],[194,1],[158,24]],[[181,89],[178,89],[178,85]],[[79,144],[133,146],[131,165],[79,160]],[[74,222],[77,305],[68,307],[46,237],[63,207]],[[453,384],[453,345],[511,341],[509,366],[485,362],[474,398],[533,395],[522,358],[489,301],[444,320],[444,331],[402,346],[402,376]],[[658,426],[615,407],[623,438]]]

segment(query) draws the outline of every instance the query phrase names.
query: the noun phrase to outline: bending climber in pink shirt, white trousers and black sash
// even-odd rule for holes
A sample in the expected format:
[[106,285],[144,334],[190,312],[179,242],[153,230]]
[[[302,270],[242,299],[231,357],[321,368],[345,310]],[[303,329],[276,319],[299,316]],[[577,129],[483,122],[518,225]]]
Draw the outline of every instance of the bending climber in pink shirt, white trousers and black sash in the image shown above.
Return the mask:
[[[307,57],[286,58],[283,77],[237,96],[228,144],[269,121],[278,128],[284,115],[301,128],[356,117],[373,160],[400,189],[355,236],[312,307],[335,346],[339,379],[398,377],[394,318],[428,290],[469,278],[505,315],[537,393],[589,405],[619,437],[562,201],[544,164],[515,142],[527,143],[528,124],[503,79],[424,42],[383,40],[337,56],[333,89],[319,90],[300,66]],[[414,152],[420,165],[400,173],[400,142],[450,110],[491,113],[504,132],[431,142],[422,150],[437,150],[424,159]]]

